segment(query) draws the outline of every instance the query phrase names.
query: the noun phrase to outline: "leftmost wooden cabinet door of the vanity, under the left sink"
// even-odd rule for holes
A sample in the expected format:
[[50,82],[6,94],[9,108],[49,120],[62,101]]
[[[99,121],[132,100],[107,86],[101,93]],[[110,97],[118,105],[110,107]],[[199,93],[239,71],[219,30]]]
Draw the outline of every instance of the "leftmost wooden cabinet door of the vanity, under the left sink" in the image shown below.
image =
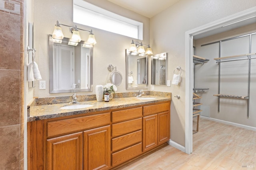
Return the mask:
[[47,170],[82,170],[82,132],[46,141]]

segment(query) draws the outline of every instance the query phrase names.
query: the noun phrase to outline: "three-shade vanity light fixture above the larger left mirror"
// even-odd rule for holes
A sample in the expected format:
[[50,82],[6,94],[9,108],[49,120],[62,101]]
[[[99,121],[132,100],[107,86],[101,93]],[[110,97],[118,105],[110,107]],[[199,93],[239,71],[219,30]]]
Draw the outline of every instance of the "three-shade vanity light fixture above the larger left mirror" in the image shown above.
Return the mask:
[[59,21],[56,21],[56,24],[54,26],[54,31],[52,33],[52,38],[53,38],[54,43],[62,43],[62,39],[64,38],[64,35],[62,33],[62,29],[61,29],[60,25],[70,27],[69,31],[72,34],[72,37],[71,37],[71,40],[68,41],[68,45],[76,46],[82,40],[81,37],[80,37],[79,30],[86,31],[86,32],[90,33],[89,37],[88,37],[88,40],[87,40],[87,43],[89,45],[95,45],[97,43],[96,40],[95,40],[95,36],[92,33],[92,29],[91,29],[91,31],[88,31],[88,30],[85,30],[85,29],[80,29],[80,28],[78,29],[77,26],[71,27],[69,25],[59,23]]

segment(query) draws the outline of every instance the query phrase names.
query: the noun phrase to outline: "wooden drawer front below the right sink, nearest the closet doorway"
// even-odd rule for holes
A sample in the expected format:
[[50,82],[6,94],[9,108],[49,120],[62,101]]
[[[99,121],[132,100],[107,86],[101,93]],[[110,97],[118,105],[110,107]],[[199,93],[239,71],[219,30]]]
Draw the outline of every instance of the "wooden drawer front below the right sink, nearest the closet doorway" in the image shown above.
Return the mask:
[[150,106],[143,106],[143,115],[152,115],[163,111],[170,110],[170,103],[153,104]]

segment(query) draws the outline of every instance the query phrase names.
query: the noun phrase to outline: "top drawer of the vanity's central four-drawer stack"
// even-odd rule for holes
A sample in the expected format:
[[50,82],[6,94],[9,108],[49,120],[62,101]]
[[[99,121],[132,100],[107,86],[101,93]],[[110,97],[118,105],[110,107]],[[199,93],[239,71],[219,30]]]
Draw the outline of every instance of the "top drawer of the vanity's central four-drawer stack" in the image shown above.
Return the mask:
[[142,117],[142,107],[132,109],[124,109],[112,112],[112,123],[126,121],[134,118]]

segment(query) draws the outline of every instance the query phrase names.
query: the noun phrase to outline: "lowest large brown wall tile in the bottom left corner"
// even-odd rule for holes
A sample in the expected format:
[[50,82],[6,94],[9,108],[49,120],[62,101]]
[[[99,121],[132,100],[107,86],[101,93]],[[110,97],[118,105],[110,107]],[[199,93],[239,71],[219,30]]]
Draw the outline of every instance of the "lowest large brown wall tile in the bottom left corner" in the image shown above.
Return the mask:
[[20,169],[20,125],[0,127],[0,153],[1,170]]

